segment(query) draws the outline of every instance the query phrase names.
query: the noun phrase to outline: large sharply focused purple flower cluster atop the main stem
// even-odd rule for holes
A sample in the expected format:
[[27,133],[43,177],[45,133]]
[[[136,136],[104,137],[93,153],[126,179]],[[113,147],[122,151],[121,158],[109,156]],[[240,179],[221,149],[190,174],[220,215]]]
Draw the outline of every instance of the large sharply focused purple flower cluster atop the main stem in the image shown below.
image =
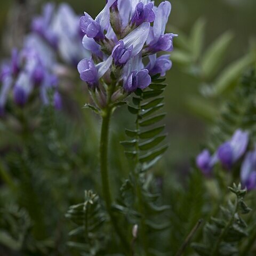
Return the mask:
[[[101,88],[100,81],[108,84],[111,80],[117,82],[121,94],[145,89],[151,76],[164,76],[172,66],[169,55],[157,58],[157,52],[173,50],[173,37],[177,36],[165,34],[171,4],[164,1],[157,7],[150,0],[106,2],[95,19],[86,12],[80,19],[83,46],[91,54],[78,63],[81,79],[90,90]],[[146,66],[143,58],[148,59]]]

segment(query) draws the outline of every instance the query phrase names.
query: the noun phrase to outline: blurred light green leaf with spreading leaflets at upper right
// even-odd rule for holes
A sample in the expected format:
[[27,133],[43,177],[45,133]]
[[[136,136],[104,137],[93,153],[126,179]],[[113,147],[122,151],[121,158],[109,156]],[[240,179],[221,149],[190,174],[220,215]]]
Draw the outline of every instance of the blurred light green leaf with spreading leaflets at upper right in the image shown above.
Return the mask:
[[206,47],[205,28],[205,21],[198,19],[189,36],[176,28],[170,29],[179,34],[174,40],[175,47],[171,59],[185,73],[196,78],[199,95],[190,95],[186,99],[189,111],[209,122],[214,122],[214,116],[218,112],[217,100],[220,97],[228,98],[228,93],[237,86],[244,70],[255,62],[255,46],[252,46],[247,54],[223,68],[234,35],[227,31]]

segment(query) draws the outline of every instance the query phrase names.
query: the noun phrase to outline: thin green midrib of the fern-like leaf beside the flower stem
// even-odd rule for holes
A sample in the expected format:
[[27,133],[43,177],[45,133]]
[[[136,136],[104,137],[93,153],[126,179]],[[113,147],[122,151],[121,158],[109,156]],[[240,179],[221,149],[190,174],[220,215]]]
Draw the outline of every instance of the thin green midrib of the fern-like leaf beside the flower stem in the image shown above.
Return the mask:
[[[141,109],[141,104],[139,103],[138,108]],[[136,119],[136,130],[139,130],[139,118]],[[136,137],[136,145],[135,145],[135,150],[136,150],[136,163],[139,163],[139,135],[137,134]],[[147,231],[146,231],[146,223],[145,223],[145,211],[143,208],[143,196],[142,196],[142,190],[140,186],[140,174],[139,170],[135,173],[135,182],[136,182],[136,190],[137,190],[137,198],[138,198],[138,210],[139,213],[141,214],[141,219],[140,219],[140,225],[141,225],[141,239],[142,239],[142,245],[143,249],[145,251],[145,255],[147,256],[149,254],[148,252],[148,239],[147,239]]]

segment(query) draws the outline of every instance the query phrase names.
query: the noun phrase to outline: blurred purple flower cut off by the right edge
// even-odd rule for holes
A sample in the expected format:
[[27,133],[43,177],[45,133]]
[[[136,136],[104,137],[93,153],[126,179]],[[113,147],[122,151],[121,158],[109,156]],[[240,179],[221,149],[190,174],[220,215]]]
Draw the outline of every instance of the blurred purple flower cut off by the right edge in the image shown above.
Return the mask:
[[246,154],[240,176],[243,186],[248,190],[256,189],[256,150]]

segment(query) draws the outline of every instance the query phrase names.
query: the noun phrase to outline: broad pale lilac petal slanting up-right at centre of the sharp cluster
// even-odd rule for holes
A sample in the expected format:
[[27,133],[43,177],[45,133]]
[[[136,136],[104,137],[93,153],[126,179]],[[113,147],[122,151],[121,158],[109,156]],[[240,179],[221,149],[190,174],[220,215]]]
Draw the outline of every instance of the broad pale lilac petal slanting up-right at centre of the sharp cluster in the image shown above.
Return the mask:
[[142,47],[147,40],[149,29],[150,23],[144,22],[123,39],[126,49],[133,45],[131,57],[134,57],[142,50]]

